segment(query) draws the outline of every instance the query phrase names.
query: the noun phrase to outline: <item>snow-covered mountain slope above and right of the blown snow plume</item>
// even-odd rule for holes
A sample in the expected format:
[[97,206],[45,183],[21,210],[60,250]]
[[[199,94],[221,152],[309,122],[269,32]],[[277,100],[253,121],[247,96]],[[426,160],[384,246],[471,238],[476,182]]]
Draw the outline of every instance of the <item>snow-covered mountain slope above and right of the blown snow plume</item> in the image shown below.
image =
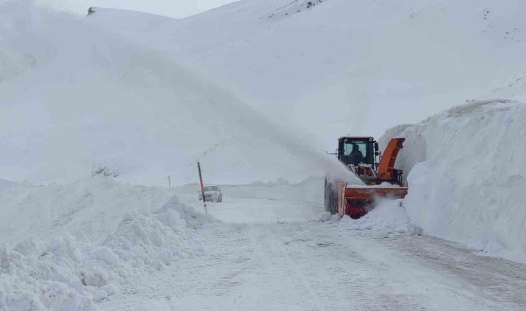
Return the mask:
[[526,68],[525,11],[520,0],[245,0],[172,21],[100,8],[89,21],[228,78],[332,149],[337,135],[417,122]]

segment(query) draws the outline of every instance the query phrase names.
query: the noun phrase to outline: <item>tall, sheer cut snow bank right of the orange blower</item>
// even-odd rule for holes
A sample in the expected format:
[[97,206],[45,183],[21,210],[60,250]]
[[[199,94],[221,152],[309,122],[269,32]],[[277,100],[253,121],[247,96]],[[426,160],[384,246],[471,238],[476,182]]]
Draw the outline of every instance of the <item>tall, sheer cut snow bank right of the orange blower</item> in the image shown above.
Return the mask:
[[426,233],[526,260],[526,104],[456,106],[381,138],[406,138],[407,214]]

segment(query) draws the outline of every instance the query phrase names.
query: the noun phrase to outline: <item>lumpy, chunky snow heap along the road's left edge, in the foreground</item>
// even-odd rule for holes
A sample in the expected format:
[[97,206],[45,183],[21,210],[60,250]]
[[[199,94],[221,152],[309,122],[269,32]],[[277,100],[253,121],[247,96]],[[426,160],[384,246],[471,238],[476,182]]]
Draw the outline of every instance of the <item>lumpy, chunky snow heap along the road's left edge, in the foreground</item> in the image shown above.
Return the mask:
[[155,213],[129,212],[102,244],[67,232],[4,243],[0,310],[94,310],[120,288],[140,288],[148,274],[201,251],[185,218],[200,221],[174,199]]

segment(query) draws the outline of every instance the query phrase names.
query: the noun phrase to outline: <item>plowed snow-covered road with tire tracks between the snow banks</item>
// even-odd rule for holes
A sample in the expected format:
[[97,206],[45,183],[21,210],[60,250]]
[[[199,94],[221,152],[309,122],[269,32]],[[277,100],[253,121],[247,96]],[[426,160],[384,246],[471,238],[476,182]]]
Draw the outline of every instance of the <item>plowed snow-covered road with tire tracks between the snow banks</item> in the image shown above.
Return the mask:
[[525,310],[526,265],[432,238],[309,222],[323,207],[225,198],[203,254],[103,310]]

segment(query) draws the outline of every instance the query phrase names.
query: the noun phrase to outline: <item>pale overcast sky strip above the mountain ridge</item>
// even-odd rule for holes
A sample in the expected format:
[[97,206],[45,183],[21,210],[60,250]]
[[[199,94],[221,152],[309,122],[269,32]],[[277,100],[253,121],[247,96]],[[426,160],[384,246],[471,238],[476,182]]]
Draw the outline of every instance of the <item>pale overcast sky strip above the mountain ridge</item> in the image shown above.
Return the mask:
[[188,17],[235,0],[36,0],[59,10],[86,15],[90,6],[149,12],[168,17]]

